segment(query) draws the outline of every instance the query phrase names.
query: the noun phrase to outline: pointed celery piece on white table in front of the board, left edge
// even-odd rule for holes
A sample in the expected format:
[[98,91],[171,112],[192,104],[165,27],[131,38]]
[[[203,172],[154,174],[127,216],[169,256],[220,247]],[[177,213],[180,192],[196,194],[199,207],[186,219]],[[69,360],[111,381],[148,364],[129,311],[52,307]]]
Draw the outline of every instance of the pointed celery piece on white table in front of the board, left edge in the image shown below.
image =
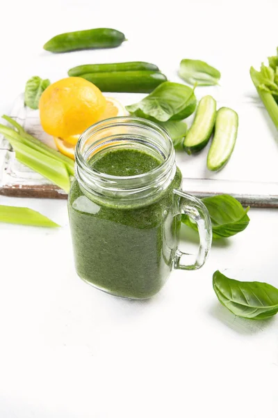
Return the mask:
[[0,222],[19,225],[48,226],[49,228],[57,228],[60,226],[36,210],[3,205],[0,205]]

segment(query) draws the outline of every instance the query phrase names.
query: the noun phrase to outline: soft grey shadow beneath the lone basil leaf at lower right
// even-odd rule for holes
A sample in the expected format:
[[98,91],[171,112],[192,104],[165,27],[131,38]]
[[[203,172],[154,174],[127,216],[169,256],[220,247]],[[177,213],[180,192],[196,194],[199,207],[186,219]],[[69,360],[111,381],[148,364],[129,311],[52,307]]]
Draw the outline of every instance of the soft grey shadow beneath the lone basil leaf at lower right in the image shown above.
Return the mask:
[[224,325],[227,325],[227,327],[231,328],[231,330],[234,330],[243,335],[263,332],[275,320],[275,317],[265,320],[240,318],[239,316],[232,314],[227,308],[223,307],[222,304],[217,302],[211,306],[211,309],[208,311],[208,313],[211,314],[213,318],[220,320],[220,322],[222,322]]

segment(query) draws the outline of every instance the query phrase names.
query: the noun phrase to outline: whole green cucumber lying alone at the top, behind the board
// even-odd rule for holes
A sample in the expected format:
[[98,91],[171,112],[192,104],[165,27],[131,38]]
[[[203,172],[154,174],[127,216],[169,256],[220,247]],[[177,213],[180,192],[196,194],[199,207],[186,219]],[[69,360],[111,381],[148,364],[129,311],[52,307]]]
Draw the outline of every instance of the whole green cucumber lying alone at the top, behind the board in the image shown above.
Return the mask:
[[78,49],[115,48],[124,40],[124,33],[115,29],[88,29],[54,36],[44,44],[44,49],[50,52],[68,52]]

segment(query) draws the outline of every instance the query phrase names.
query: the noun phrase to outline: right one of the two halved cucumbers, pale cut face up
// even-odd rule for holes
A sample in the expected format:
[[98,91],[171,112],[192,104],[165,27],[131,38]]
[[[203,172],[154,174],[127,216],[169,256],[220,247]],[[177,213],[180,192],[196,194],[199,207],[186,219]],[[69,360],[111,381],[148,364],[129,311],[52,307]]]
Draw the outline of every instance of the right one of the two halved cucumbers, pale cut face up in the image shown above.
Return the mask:
[[216,115],[215,134],[208,151],[208,170],[220,170],[229,161],[237,135],[238,114],[229,107],[221,107]]

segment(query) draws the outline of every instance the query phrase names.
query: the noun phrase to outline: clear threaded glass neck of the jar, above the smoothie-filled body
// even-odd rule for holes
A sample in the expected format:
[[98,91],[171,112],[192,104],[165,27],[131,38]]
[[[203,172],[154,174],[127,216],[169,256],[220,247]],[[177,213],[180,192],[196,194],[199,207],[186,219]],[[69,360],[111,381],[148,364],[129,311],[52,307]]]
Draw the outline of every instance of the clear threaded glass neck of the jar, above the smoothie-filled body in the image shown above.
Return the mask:
[[[124,126],[126,133],[117,133],[117,128]],[[111,134],[111,128],[115,128],[114,134]],[[90,142],[94,136],[95,141]],[[92,155],[106,147],[133,142],[161,154],[161,164],[136,176],[112,176],[97,171],[88,163]],[[84,194],[102,203],[117,199],[123,207],[128,207],[131,200],[145,206],[147,202],[158,199],[176,173],[174,146],[167,131],[152,121],[132,116],[109,118],[90,126],[81,134],[75,155],[75,176]]]

